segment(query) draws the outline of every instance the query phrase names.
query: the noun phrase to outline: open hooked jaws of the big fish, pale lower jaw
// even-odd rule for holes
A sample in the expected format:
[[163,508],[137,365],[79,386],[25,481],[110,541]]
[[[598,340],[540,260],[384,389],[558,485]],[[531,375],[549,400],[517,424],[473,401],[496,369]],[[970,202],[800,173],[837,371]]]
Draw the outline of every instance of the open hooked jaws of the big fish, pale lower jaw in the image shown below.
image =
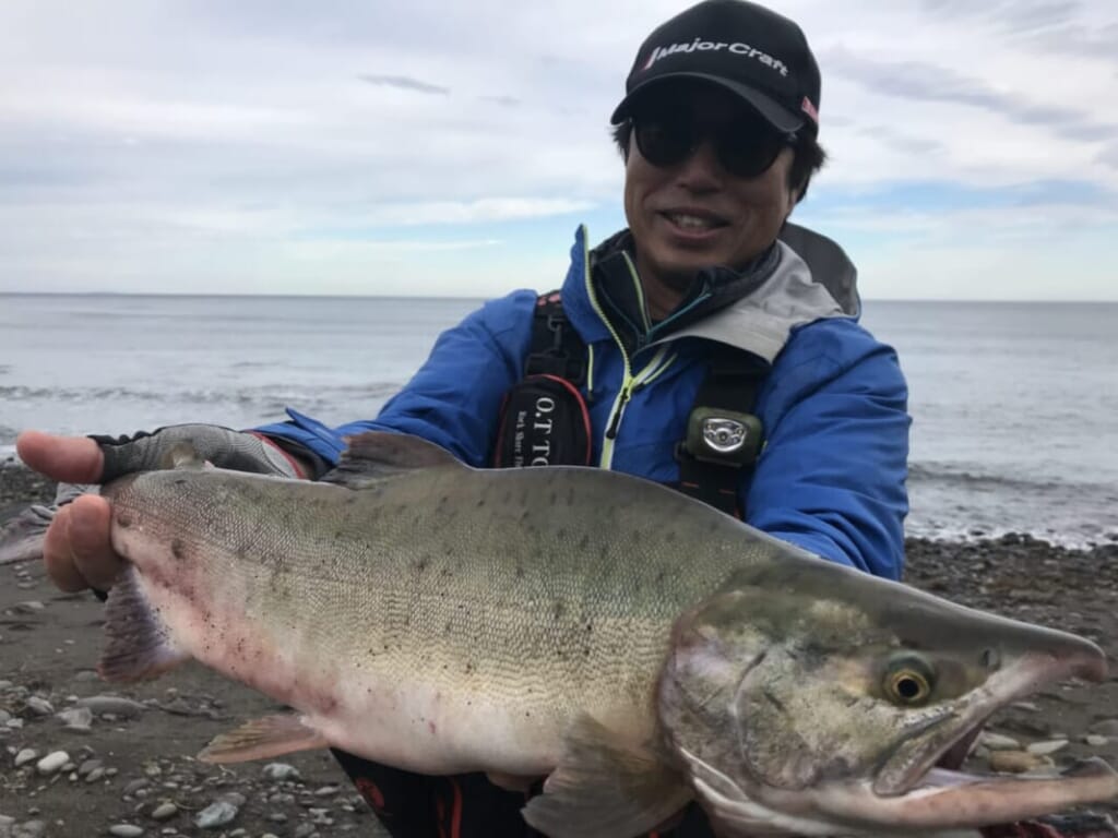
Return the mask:
[[731,834],[758,830],[804,836],[872,830],[980,828],[1118,798],[1118,772],[1091,759],[1058,775],[1017,777],[958,770],[999,707],[1070,677],[1106,677],[1100,650],[1033,653],[995,673],[961,706],[929,713],[866,775],[800,790],[742,788],[735,778],[682,751],[695,792]]

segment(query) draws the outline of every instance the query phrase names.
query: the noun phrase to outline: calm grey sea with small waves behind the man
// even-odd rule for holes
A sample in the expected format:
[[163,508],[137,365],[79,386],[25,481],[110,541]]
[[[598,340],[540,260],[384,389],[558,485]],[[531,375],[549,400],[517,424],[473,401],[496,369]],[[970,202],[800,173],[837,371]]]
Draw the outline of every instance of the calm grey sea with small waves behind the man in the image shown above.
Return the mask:
[[[471,299],[0,295],[0,457],[25,428],[376,415]],[[865,304],[913,416],[912,535],[1118,539],[1118,304]]]

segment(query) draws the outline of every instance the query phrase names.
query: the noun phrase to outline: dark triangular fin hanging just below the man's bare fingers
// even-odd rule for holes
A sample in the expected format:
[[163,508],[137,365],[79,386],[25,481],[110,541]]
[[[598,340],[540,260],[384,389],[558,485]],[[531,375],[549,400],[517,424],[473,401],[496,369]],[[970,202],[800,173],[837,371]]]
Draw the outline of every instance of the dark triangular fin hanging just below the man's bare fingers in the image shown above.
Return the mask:
[[154,678],[190,656],[179,649],[159,609],[129,566],[108,592],[105,603],[105,649],[97,672],[105,680]]

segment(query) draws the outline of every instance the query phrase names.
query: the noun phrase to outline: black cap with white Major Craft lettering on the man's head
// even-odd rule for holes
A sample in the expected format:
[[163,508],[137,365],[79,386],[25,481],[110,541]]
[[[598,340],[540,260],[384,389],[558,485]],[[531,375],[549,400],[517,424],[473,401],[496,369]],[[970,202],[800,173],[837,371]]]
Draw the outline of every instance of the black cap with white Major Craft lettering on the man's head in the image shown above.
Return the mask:
[[798,26],[746,0],[704,0],[647,37],[610,122],[659,82],[694,78],[752,105],[778,131],[819,127],[819,67]]

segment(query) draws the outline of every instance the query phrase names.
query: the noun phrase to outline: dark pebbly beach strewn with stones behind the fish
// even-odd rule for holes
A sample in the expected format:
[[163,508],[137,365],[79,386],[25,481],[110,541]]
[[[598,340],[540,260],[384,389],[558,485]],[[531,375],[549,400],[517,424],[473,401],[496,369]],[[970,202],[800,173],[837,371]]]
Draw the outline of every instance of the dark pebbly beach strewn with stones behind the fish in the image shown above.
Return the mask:
[[[0,524],[53,496],[51,483],[0,464]],[[1011,534],[907,549],[910,584],[1118,655],[1118,544],[1069,550]],[[101,610],[87,594],[56,590],[39,565],[0,568],[0,838],[385,835],[324,752],[197,762],[214,735],[277,708],[195,665],[152,683],[102,683],[92,669]],[[1118,763],[1118,677],[1006,708],[969,762],[1046,773],[1095,755]]]

